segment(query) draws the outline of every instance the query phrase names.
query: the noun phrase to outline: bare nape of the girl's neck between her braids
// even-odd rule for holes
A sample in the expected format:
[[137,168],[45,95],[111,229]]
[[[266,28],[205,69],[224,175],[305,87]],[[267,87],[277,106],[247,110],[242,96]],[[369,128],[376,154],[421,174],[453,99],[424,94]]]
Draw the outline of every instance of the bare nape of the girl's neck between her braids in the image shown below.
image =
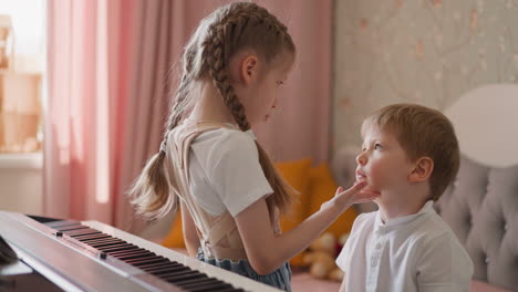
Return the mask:
[[213,83],[204,82],[200,87],[199,100],[194,106],[189,118],[236,124],[230,111]]

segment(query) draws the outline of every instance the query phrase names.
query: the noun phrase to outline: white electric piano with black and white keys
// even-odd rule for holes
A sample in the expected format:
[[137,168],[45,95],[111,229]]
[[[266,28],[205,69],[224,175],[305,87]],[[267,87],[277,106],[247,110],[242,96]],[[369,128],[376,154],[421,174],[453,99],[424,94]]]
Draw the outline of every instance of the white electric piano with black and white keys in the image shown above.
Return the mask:
[[23,262],[65,291],[280,291],[97,221],[0,211],[0,230]]

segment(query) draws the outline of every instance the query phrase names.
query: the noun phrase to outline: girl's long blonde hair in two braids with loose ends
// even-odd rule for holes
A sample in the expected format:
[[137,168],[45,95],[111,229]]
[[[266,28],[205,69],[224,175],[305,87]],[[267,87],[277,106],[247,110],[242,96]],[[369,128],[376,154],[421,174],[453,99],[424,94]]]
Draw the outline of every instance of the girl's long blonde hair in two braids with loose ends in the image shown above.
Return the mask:
[[[188,41],[183,55],[183,74],[164,135],[182,122],[193,107],[194,86],[210,79],[241,131],[250,125],[245,107],[230,84],[228,64],[236,53],[252,49],[266,63],[283,51],[296,53],[296,46],[274,15],[250,2],[234,2],[205,18]],[[270,217],[276,208],[287,210],[294,190],[282,179],[263,148],[256,142],[259,161],[274,194],[267,198]],[[164,170],[165,152],[155,154],[136,179],[130,196],[137,215],[148,219],[165,216],[176,208],[178,198],[169,194]]]

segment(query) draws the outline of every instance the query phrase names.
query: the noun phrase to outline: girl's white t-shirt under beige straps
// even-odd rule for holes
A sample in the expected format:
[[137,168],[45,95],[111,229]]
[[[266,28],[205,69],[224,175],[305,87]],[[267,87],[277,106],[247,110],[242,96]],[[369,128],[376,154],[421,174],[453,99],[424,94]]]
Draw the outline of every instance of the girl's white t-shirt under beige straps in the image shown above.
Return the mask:
[[210,215],[232,217],[273,192],[259,164],[251,132],[219,128],[190,144],[190,194]]

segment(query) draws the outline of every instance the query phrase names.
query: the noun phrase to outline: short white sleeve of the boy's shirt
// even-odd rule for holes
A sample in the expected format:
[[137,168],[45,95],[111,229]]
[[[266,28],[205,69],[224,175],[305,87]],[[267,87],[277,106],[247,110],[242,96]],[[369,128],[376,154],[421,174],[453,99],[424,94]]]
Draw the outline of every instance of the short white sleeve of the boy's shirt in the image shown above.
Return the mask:
[[470,291],[473,262],[452,237],[445,233],[422,247],[416,262],[419,291]]

